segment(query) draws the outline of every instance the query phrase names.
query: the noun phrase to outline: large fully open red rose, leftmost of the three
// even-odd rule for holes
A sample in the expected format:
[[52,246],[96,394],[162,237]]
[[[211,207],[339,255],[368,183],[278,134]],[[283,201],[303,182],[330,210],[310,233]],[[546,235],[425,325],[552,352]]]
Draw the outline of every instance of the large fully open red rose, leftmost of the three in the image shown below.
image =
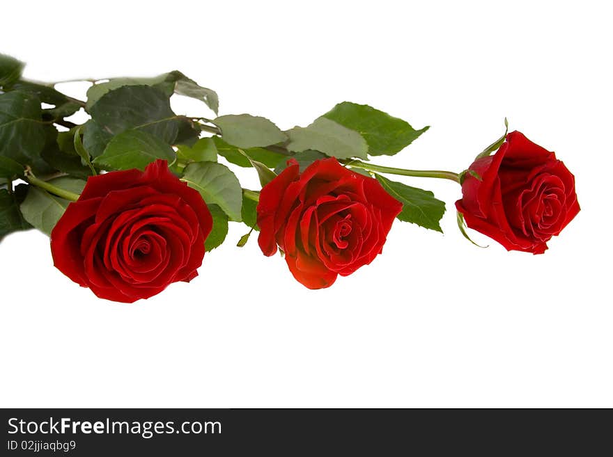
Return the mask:
[[54,264],[107,300],[132,303],[198,275],[212,218],[158,160],[88,179],[51,234]]

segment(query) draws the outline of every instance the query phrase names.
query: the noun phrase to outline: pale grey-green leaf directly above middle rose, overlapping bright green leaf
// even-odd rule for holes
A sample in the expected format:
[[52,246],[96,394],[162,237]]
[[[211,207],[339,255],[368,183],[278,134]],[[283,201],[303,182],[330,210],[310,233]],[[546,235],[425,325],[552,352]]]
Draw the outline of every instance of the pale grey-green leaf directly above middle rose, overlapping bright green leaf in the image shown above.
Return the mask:
[[309,127],[294,127],[286,133],[290,137],[287,148],[293,152],[317,150],[338,159],[366,159],[368,154],[368,144],[357,131],[327,118],[318,118]]

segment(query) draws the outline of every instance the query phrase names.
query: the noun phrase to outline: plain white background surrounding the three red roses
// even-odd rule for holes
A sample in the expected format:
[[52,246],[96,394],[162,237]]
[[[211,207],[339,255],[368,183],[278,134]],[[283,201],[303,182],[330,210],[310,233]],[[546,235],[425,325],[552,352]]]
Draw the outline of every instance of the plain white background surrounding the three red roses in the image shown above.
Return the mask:
[[[396,221],[383,255],[309,291],[245,226],[200,276],[135,305],[52,266],[38,232],[0,244],[4,407],[613,406],[613,74],[606,2],[11,2],[0,51],[25,77],[178,69],[220,113],[307,125],[337,102],[431,125],[375,163],[460,171],[511,129],[557,152],[582,211],[545,255]],[[576,6],[575,6],[576,5]],[[62,86],[83,96],[87,86]],[[179,113],[211,115],[177,100]],[[252,170],[240,177],[256,186]],[[403,178],[453,209],[453,182]]]

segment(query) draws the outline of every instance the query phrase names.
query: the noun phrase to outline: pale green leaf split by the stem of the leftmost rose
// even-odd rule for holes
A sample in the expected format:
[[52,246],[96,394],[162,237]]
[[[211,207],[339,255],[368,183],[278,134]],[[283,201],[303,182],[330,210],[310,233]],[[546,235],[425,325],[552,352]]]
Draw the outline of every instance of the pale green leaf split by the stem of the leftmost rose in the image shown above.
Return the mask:
[[[56,178],[49,182],[61,189],[75,193],[81,193],[85,186],[85,181],[82,179],[70,177]],[[69,203],[68,200],[51,195],[42,189],[38,189],[38,187],[29,186],[28,195],[21,205],[21,211],[24,219],[33,227],[50,235]]]

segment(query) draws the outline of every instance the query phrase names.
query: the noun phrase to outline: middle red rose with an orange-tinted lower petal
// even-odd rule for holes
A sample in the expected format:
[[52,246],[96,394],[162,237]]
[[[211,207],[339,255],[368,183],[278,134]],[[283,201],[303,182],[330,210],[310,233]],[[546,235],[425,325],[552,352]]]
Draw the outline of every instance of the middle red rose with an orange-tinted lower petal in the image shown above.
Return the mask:
[[258,242],[265,255],[279,245],[294,278],[322,289],[370,264],[401,210],[376,179],[336,159],[318,160],[303,173],[291,159],[260,193]]

